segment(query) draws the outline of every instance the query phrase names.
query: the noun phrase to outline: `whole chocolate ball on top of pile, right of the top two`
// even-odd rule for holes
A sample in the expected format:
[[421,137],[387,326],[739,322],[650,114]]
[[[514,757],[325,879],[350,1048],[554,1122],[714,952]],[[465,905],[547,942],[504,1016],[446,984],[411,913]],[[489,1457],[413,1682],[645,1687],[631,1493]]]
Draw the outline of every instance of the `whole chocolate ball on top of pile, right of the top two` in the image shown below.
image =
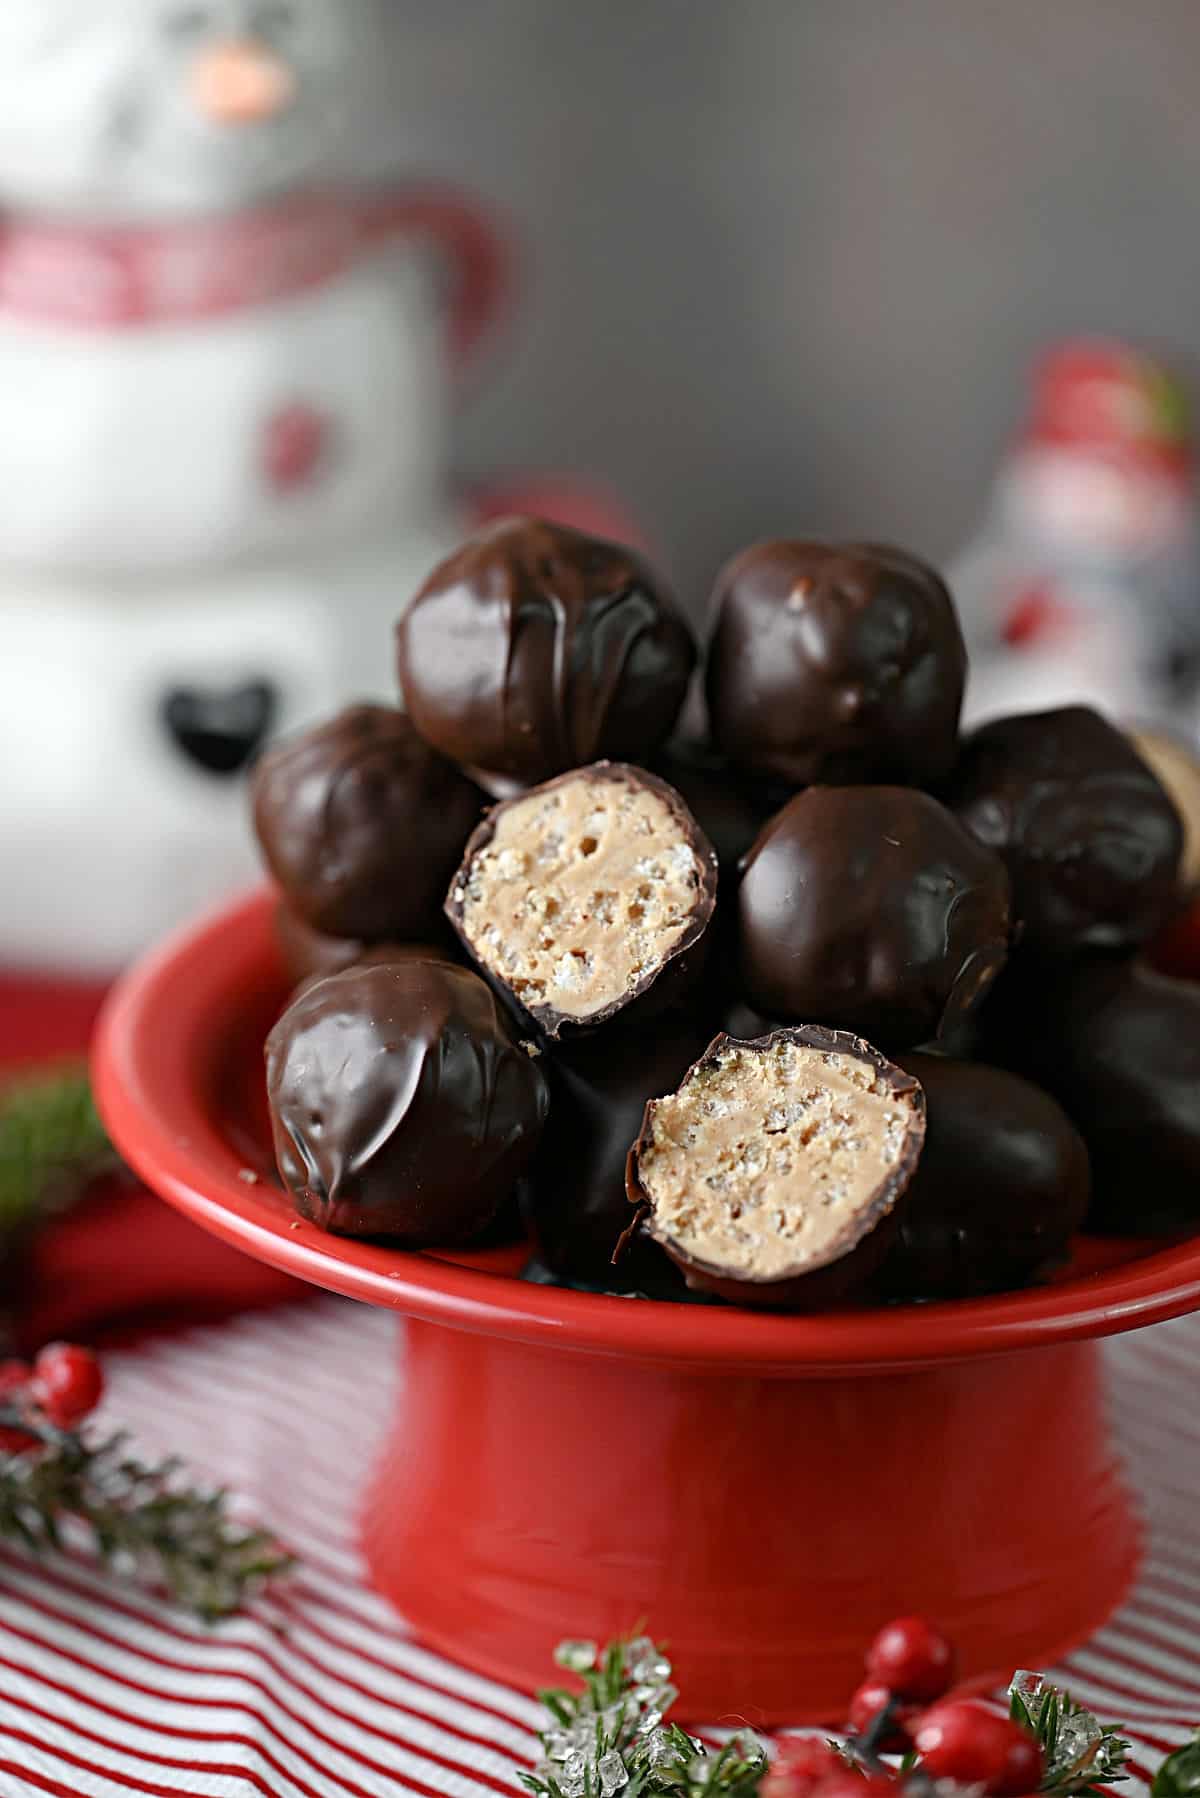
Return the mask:
[[954,766],[966,649],[950,593],[874,543],[757,543],[718,577],[709,723],[788,788],[928,786]]

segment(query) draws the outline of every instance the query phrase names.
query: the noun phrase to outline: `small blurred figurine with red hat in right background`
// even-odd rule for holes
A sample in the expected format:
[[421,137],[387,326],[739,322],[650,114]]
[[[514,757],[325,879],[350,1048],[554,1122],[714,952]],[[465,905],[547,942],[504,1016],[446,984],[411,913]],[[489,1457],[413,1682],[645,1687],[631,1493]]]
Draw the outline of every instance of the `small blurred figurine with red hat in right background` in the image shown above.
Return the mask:
[[1052,349],[950,583],[972,721],[1081,703],[1195,730],[1200,534],[1177,379],[1123,343]]

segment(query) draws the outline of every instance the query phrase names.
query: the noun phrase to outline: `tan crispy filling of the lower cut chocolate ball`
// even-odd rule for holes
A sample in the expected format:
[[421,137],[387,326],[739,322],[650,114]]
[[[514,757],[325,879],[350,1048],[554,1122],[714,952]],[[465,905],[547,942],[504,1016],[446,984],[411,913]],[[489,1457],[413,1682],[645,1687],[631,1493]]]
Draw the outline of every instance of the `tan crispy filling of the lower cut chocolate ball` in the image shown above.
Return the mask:
[[856,1055],[730,1045],[655,1108],[639,1158],[655,1235],[756,1280],[822,1266],[865,1233],[855,1221],[896,1174],[910,1124]]

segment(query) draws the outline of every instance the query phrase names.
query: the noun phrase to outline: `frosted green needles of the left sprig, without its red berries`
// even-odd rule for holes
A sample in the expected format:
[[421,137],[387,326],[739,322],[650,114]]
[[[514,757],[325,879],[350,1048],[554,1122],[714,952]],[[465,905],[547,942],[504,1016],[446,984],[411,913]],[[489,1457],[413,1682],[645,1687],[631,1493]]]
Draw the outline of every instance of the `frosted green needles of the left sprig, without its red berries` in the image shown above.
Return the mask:
[[34,1437],[0,1453],[0,1535],[31,1553],[61,1548],[83,1525],[113,1573],[162,1586],[205,1622],[291,1566],[268,1532],[234,1525],[225,1492],[191,1491],[178,1460],[146,1465],[126,1435],[90,1442],[16,1406],[0,1410],[0,1428]]

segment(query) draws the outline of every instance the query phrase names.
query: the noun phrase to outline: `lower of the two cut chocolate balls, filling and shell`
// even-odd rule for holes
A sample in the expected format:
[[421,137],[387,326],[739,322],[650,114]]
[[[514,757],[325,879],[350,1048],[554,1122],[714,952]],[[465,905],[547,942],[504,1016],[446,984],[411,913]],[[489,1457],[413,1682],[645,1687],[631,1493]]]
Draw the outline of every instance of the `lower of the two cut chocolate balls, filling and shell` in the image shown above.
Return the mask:
[[874,1275],[921,1154],[918,1081],[840,1030],[718,1036],[646,1106],[630,1199],[693,1287],[831,1304]]

